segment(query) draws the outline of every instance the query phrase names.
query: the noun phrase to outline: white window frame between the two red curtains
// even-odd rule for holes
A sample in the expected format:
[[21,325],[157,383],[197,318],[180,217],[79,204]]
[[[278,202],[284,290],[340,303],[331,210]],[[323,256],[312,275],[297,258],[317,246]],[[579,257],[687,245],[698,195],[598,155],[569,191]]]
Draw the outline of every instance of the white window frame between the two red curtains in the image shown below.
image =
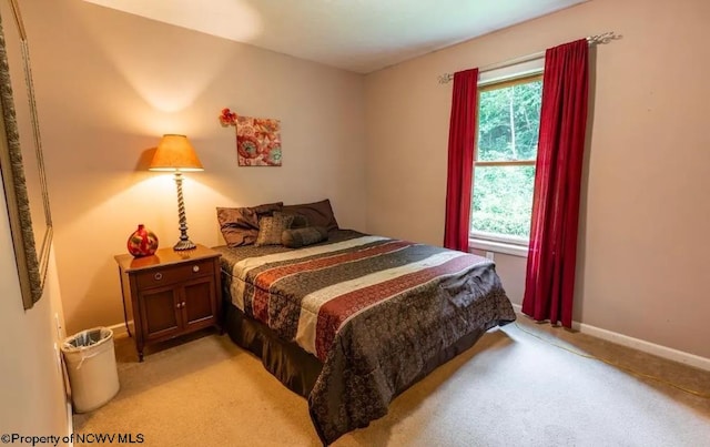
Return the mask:
[[[480,74],[478,81],[478,98],[480,92],[486,90],[500,89],[524,82],[534,82],[544,79],[545,59],[539,58],[520,64],[506,67]],[[480,101],[477,101],[477,108]],[[477,110],[478,112],[478,110]],[[480,113],[476,113],[476,130]],[[477,131],[478,132],[478,131]],[[537,160],[513,160],[513,161],[476,161],[478,156],[478,139],[474,148],[475,166],[535,166]],[[475,187],[475,184],[474,184]],[[475,191],[471,191],[471,213]],[[514,256],[527,257],[529,238],[505,236],[497,233],[477,232],[469,230],[468,244],[470,248],[505,253]]]

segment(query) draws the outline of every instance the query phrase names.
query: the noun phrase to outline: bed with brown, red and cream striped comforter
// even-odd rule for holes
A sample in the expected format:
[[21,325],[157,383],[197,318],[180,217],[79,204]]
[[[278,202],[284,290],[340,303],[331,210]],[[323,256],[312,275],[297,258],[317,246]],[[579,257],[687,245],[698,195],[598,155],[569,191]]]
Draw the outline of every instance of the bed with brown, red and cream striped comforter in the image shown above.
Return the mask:
[[[306,228],[325,223],[320,240],[260,244],[264,222],[283,217],[273,209],[251,216],[260,226],[255,243],[215,247],[224,328],[307,398],[324,445],[383,417],[398,394],[489,328],[515,321],[485,257],[341,230],[308,213]],[[285,237],[280,225],[272,234]]]

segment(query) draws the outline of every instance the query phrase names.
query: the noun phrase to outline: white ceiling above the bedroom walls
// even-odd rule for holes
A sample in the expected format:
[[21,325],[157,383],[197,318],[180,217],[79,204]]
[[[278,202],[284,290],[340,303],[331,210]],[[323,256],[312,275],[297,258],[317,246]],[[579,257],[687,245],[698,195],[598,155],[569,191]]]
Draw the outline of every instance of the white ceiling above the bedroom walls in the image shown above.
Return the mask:
[[587,0],[84,0],[369,73]]

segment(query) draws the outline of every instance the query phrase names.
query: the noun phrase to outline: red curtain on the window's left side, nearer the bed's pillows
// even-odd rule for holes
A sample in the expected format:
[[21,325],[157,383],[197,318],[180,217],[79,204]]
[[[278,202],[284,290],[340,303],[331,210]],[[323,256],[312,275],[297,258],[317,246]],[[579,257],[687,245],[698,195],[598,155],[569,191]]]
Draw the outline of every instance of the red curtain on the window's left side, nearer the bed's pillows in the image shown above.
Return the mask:
[[454,73],[444,246],[462,252],[468,252],[477,100],[478,69]]

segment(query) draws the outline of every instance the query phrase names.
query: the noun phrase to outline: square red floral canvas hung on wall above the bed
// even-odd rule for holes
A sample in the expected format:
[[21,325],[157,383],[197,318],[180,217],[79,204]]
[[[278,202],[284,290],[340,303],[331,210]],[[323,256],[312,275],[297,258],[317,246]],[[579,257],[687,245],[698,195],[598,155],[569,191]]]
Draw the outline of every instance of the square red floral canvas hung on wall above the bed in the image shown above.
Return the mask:
[[236,156],[240,166],[281,166],[281,122],[237,116]]

